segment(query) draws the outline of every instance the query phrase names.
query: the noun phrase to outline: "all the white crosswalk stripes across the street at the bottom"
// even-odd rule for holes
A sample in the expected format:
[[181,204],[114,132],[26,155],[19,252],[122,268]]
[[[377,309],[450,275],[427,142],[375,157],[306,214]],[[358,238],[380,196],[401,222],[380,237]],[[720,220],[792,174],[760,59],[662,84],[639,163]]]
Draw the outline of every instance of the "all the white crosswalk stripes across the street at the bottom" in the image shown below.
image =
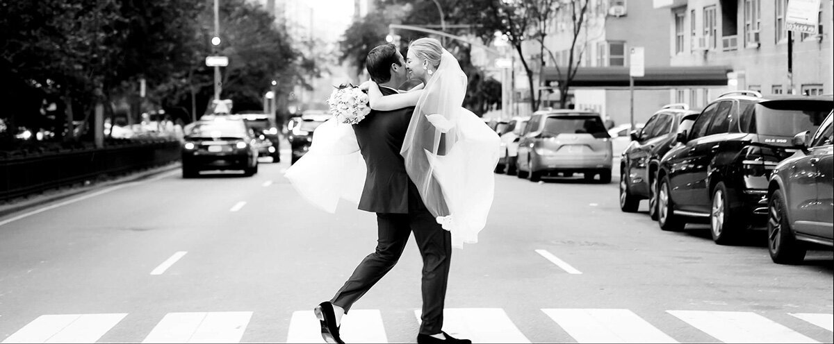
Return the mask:
[[[545,322],[535,326],[558,327],[575,342],[610,343],[675,343],[676,334],[665,333],[651,322],[627,309],[566,309],[536,310]],[[832,332],[834,315],[829,313],[786,313],[788,320],[796,318],[815,327]],[[98,342],[114,328],[131,327],[125,321],[128,313],[53,314],[36,317],[3,343]],[[144,337],[125,338],[129,342],[188,343],[241,342],[247,331],[269,332],[269,329],[250,328],[254,312],[172,312],[164,315]],[[446,332],[472,339],[475,343],[529,343],[530,337],[520,330],[501,308],[449,308],[445,310]],[[685,322],[689,327],[713,337],[719,342],[781,342],[813,343],[808,334],[797,332],[756,312],[714,312],[670,310],[652,315],[651,319],[668,317]],[[417,324],[420,311],[414,312]],[[0,318],[0,321],[6,318]],[[414,331],[417,324],[414,325]],[[0,322],[0,326],[2,326]],[[401,326],[401,325],[399,325]],[[530,331],[530,327],[521,327]],[[814,328],[814,327],[811,327]],[[396,330],[396,329],[394,329]],[[404,329],[401,329],[405,331]],[[818,336],[819,331],[817,331]],[[0,336],[5,334],[0,333]],[[276,334],[276,336],[281,336]],[[345,342],[385,343],[384,312],[353,310],[342,323]],[[0,337],[2,338],[2,337]],[[831,337],[828,337],[831,338]],[[274,341],[292,343],[321,343],[319,322],[312,310],[292,313],[286,337]],[[827,341],[830,341],[828,339]]]

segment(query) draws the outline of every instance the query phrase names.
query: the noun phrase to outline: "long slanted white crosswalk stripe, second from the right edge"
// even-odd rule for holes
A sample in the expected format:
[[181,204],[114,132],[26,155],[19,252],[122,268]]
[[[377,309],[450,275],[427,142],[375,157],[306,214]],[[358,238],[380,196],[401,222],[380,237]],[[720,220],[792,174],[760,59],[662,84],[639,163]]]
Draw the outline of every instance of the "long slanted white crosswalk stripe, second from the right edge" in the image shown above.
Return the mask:
[[667,311],[721,342],[816,343],[754,312]]

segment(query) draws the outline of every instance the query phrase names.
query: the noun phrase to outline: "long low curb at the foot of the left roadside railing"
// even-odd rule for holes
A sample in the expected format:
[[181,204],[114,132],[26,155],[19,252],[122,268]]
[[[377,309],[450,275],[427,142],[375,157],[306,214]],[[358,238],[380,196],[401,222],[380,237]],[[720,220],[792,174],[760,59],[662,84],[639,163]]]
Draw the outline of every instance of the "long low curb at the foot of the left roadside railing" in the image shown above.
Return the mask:
[[153,167],[147,171],[133,172],[122,177],[116,177],[112,180],[105,180],[102,182],[92,182],[83,187],[69,187],[68,189],[53,189],[46,191],[43,195],[30,196],[27,199],[18,202],[12,202],[8,205],[0,205],[0,217],[6,217],[15,212],[22,212],[28,208],[42,206],[47,203],[60,201],[64,198],[78,196],[83,193],[93,192],[105,187],[112,187],[113,185],[125,184],[128,182],[135,182],[148,177],[153,177],[158,174],[170,172],[180,167],[179,162],[171,162],[168,165],[161,167]]

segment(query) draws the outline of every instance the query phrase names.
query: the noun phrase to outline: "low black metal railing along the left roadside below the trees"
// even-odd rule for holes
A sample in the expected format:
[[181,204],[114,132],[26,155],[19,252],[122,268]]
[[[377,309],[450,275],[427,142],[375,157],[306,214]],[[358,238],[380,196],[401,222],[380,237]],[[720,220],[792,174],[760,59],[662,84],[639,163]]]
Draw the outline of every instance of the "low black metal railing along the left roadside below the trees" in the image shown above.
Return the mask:
[[0,201],[84,182],[100,175],[156,167],[180,158],[180,142],[127,143],[0,159]]

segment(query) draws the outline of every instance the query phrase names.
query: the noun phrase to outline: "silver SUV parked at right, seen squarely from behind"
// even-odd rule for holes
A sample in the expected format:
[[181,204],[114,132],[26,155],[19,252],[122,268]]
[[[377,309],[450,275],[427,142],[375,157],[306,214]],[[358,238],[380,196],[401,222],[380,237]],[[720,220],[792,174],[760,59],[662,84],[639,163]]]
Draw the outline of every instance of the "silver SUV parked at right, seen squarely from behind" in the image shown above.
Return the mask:
[[518,177],[538,182],[555,173],[585,174],[586,181],[600,176],[611,182],[610,136],[599,113],[576,110],[535,112],[519,140],[515,168]]

